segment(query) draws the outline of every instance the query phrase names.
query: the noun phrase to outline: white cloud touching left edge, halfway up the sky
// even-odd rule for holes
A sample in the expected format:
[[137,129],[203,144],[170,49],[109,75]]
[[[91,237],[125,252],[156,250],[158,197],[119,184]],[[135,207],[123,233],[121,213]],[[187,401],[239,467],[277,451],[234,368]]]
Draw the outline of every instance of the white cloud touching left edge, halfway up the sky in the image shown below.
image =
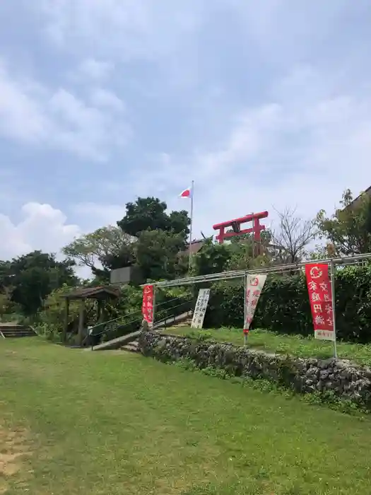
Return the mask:
[[[100,101],[99,101],[100,98]],[[106,160],[129,139],[128,124],[112,113],[119,98],[105,90],[89,104],[65,88],[47,88],[10,74],[0,60],[0,134],[25,144]]]

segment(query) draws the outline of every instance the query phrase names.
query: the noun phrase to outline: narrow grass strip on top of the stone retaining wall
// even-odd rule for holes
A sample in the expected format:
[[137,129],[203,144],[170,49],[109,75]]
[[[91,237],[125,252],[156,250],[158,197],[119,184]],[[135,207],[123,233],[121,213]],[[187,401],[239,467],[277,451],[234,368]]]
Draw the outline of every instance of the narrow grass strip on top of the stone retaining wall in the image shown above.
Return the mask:
[[[196,330],[191,327],[169,327],[167,333],[183,335],[185,337],[205,339],[217,342],[230,342],[235,345],[243,345],[244,335],[241,329],[220,328],[218,330]],[[291,354],[300,357],[328,358],[334,356],[334,344],[314,337],[300,337],[300,335],[283,335],[269,332],[268,330],[251,330],[248,337],[248,346],[262,351]],[[371,345],[349,344],[337,342],[338,357],[351,359],[360,364],[371,366]]]

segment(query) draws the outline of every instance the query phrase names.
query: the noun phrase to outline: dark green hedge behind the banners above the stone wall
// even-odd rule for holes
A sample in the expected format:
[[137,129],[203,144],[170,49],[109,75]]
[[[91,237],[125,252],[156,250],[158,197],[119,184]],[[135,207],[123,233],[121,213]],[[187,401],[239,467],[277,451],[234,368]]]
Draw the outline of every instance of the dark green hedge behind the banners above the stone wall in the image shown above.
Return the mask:
[[[371,342],[371,266],[338,268],[335,296],[338,339]],[[242,328],[243,301],[243,284],[213,284],[204,326]],[[254,327],[285,334],[312,334],[304,275],[268,276],[254,315]]]

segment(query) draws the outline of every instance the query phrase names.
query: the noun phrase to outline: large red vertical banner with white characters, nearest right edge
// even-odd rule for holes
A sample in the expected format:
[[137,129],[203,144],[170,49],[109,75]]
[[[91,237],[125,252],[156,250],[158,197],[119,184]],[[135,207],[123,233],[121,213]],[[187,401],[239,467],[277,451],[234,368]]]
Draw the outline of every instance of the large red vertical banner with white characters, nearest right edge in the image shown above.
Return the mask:
[[306,264],[305,276],[312,310],[314,338],[334,341],[334,310],[329,265],[324,263]]

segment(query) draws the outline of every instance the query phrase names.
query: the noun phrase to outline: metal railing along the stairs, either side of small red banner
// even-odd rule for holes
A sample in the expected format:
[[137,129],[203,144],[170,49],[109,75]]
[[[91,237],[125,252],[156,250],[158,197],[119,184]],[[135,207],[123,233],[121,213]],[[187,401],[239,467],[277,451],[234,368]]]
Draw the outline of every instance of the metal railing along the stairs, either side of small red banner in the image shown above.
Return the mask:
[[[179,301],[181,298],[173,298],[169,301],[163,301],[163,303],[158,303],[155,306],[155,319],[156,321],[153,323],[154,327],[167,327],[174,324],[177,321],[177,317],[182,313],[188,312],[192,310],[194,301],[183,301],[177,305],[171,305],[170,308],[166,308],[166,305],[174,303],[174,301]],[[135,316],[134,316],[135,315]],[[129,321],[123,321],[124,319],[133,316]],[[141,323],[143,321],[142,312],[134,311],[125,315],[124,317],[114,318],[113,320],[109,320],[107,322],[98,323],[94,327],[90,328],[90,332],[86,335],[85,339],[83,339],[82,346],[86,345],[89,342],[89,345],[93,348],[95,345],[102,342],[102,339],[105,339],[105,342],[108,340],[112,340],[116,337],[122,337],[131,332],[135,332],[141,328]],[[97,332],[97,329],[102,328],[100,332]]]

